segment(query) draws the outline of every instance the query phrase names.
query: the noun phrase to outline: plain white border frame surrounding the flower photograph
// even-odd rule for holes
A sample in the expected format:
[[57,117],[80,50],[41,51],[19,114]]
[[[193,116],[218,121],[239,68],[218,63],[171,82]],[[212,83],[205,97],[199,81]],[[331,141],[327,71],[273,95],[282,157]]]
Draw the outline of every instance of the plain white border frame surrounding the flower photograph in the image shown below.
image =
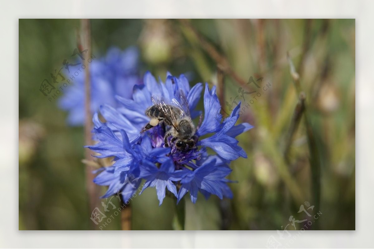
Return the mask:
[[[290,248],[373,246],[373,2],[7,1],[2,3],[0,247],[253,248],[274,231],[18,231],[18,18],[356,18],[356,231],[307,231]],[[10,86],[10,87],[9,87]],[[11,151],[9,151],[9,149]],[[344,217],[341,217],[344,219]]]

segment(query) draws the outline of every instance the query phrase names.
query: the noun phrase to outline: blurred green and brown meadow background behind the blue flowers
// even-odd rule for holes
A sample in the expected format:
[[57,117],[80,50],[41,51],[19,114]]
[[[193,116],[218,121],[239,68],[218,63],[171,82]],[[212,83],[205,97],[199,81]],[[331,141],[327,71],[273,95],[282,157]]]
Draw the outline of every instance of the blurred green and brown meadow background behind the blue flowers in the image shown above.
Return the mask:
[[[229,178],[238,181],[230,184],[234,198],[199,196],[196,205],[187,200],[186,229],[282,230],[290,215],[310,219],[298,213],[308,201],[315,205],[313,214],[322,213],[309,229],[354,230],[355,20],[193,19],[191,25],[245,81],[263,77],[260,85],[266,91],[240,116],[255,128],[238,137],[248,159],[231,164]],[[57,101],[49,102],[39,91],[42,80],[71,55],[79,28],[80,21],[74,19],[19,20],[20,230],[92,228],[83,128],[69,127]],[[92,19],[91,32],[96,57],[111,46],[136,45],[142,72],[162,79],[167,71],[187,73],[191,85],[217,84],[217,63],[178,20]],[[285,157],[298,103],[287,52],[300,75],[307,112]],[[240,95],[239,87],[225,75],[225,101]],[[257,90],[254,87],[250,84],[247,90]],[[242,107],[253,96],[245,96]],[[119,206],[117,198],[112,201]],[[134,230],[173,228],[174,200],[166,198],[159,207],[152,188],[133,199],[132,212]],[[119,216],[102,229],[121,229]]]

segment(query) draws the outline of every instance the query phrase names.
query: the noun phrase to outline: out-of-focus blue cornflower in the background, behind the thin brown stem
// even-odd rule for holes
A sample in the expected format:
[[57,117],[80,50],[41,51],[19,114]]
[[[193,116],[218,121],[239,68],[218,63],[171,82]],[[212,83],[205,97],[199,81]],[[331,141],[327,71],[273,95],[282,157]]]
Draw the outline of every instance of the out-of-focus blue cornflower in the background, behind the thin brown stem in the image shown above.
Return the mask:
[[[91,111],[94,113],[100,105],[116,106],[114,96],[131,98],[134,85],[141,83],[138,72],[139,53],[135,47],[125,51],[118,48],[108,50],[105,57],[92,60],[91,72]],[[82,125],[84,122],[85,74],[74,78],[73,84],[64,91],[59,99],[59,107],[67,110],[68,124]]]

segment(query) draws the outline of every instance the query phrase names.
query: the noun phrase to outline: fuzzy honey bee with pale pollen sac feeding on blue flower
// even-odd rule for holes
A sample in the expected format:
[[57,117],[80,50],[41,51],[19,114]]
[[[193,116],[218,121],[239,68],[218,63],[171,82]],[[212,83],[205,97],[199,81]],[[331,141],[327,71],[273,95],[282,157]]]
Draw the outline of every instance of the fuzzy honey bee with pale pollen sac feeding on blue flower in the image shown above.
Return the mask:
[[165,133],[164,141],[165,147],[169,147],[168,138],[172,136],[171,143],[174,143],[178,150],[185,151],[193,149],[196,146],[196,128],[192,122],[188,102],[183,91],[180,91],[180,102],[172,100],[172,104],[166,104],[159,98],[151,97],[153,106],[145,110],[145,115],[151,118],[148,124],[142,129],[140,133],[149,130],[150,128],[164,122],[171,126],[170,130]]

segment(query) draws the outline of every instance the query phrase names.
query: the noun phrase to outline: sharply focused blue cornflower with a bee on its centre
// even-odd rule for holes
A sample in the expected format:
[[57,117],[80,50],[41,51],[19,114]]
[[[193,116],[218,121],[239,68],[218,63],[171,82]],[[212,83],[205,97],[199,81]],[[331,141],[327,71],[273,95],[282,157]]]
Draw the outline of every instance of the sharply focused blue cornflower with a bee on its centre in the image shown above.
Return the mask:
[[[145,73],[143,82],[134,86],[132,98],[116,96],[120,103],[117,108],[110,105],[99,108],[105,123],[99,120],[97,113],[93,117],[93,132],[98,143],[88,147],[99,154],[97,157],[113,157],[114,161],[112,166],[103,169],[95,178],[95,183],[109,186],[104,197],[126,190],[126,194],[122,194],[126,201],[131,196],[129,194],[137,190],[139,180],[144,179],[141,192],[148,187],[155,187],[160,205],[166,189],[174,194],[177,202],[187,192],[193,203],[196,202],[198,192],[206,198],[211,194],[221,199],[232,198],[233,194],[227,186],[231,181],[226,179],[232,171],[229,164],[240,156],[246,158],[246,153],[235,137],[252,128],[247,123],[235,125],[239,118],[240,103],[221,122],[221,105],[215,87],[209,90],[208,84],[205,84],[202,114],[196,110],[203,90],[201,83],[190,88],[184,75],[177,78],[169,74],[165,83],[161,80],[157,82],[150,72]],[[165,146],[164,136],[169,128],[165,123],[160,122],[140,133],[150,122],[145,110],[154,105],[151,97],[171,104],[181,101],[181,91],[187,100],[191,117],[200,115],[201,120],[203,115],[201,124],[197,126],[196,146],[183,151],[177,149],[171,137],[168,139],[170,146]],[[200,140],[201,136],[205,138]],[[207,147],[216,154],[209,155]],[[136,181],[129,180],[129,176]]]

